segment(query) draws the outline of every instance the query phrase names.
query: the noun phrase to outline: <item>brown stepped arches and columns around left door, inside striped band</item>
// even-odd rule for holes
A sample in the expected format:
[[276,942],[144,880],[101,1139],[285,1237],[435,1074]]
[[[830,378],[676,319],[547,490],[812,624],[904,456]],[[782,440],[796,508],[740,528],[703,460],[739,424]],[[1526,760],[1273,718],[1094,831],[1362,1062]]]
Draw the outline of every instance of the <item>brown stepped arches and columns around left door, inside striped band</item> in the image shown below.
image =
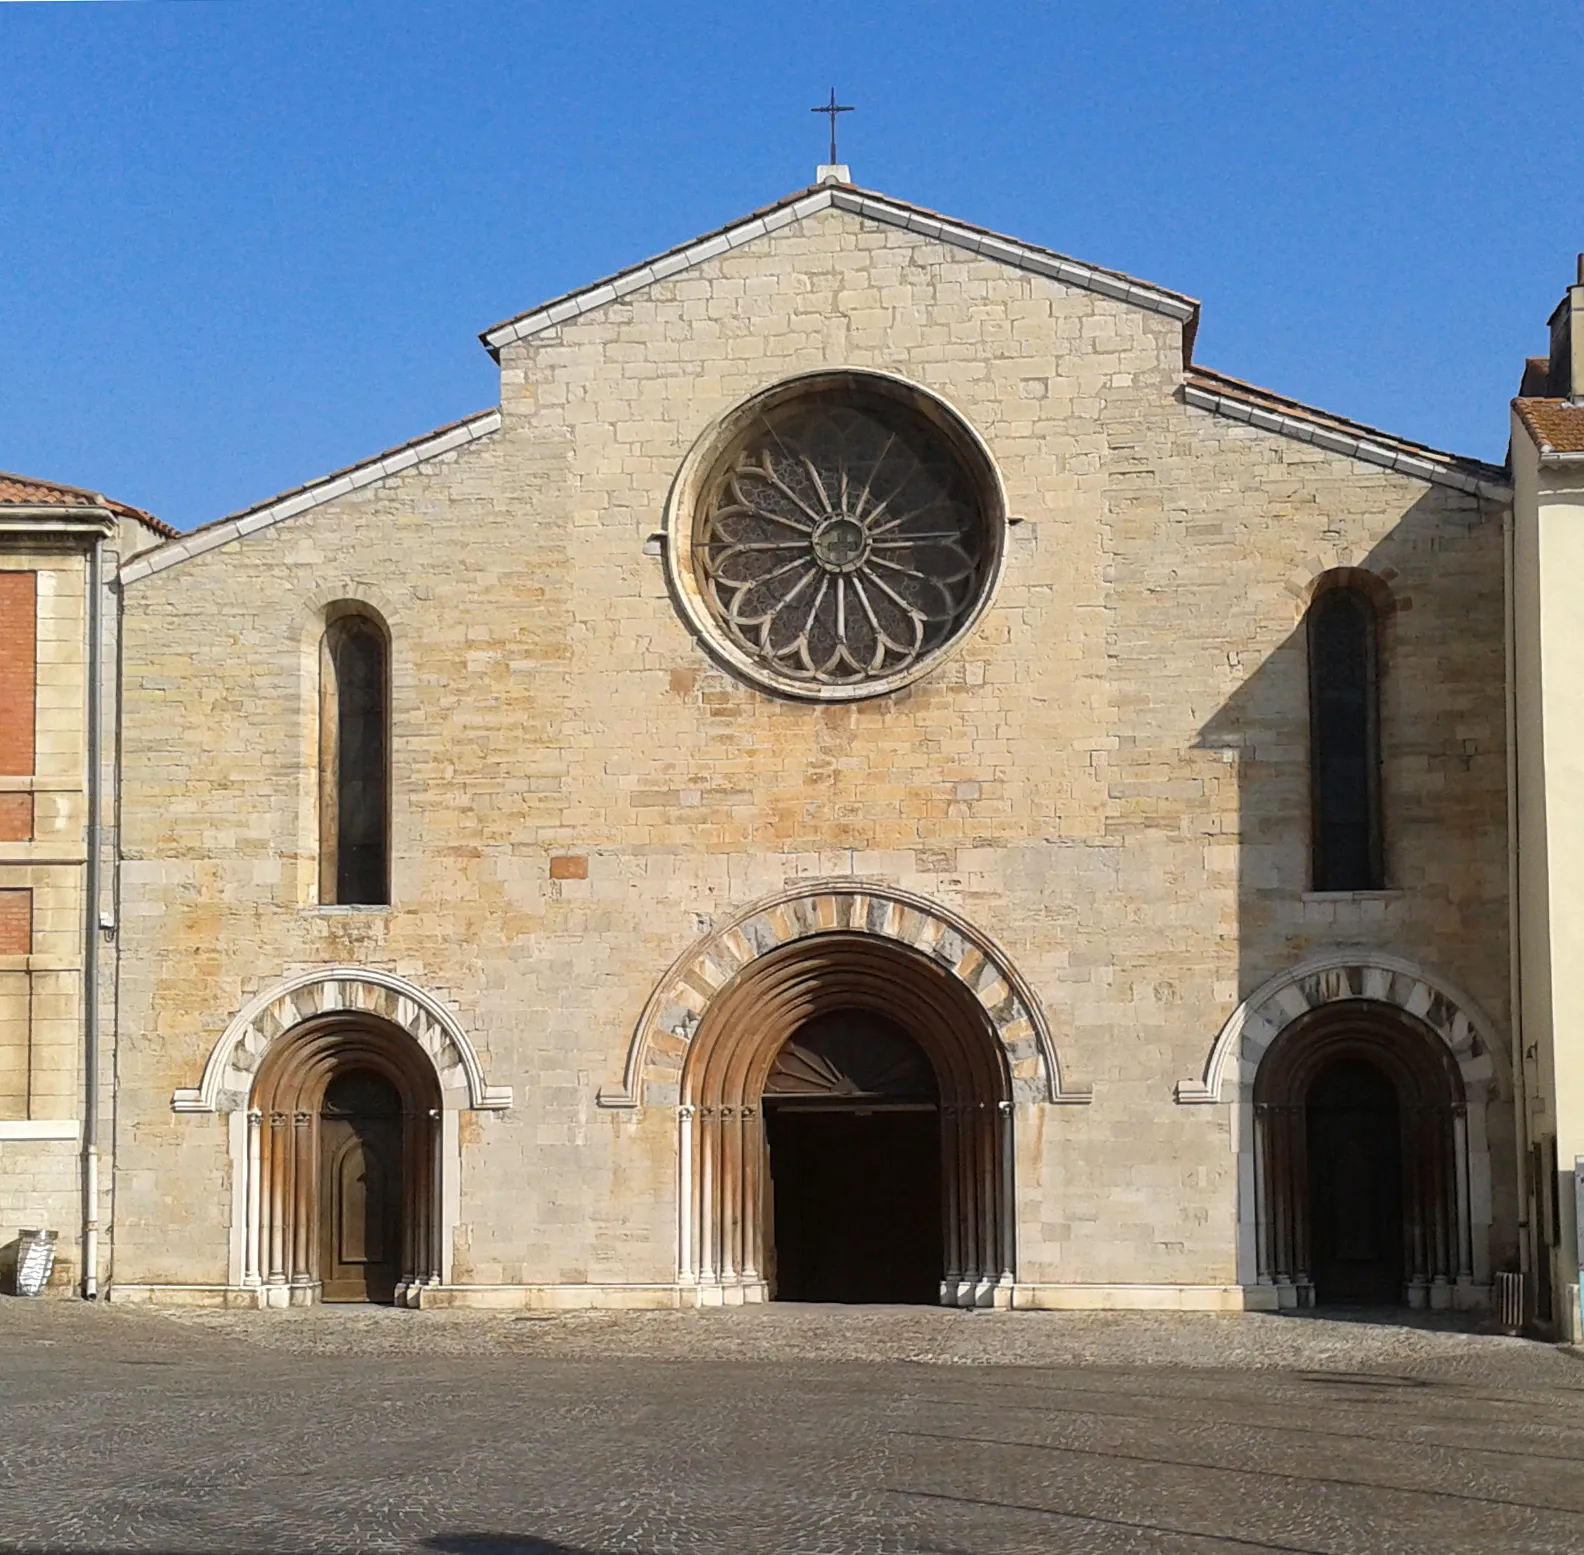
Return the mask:
[[318,1297],[325,1093],[358,1072],[379,1075],[401,1101],[396,1300],[418,1305],[420,1292],[444,1279],[439,1075],[413,1039],[388,1021],[322,1015],[271,1047],[249,1097],[242,1286],[257,1287],[265,1305]]

